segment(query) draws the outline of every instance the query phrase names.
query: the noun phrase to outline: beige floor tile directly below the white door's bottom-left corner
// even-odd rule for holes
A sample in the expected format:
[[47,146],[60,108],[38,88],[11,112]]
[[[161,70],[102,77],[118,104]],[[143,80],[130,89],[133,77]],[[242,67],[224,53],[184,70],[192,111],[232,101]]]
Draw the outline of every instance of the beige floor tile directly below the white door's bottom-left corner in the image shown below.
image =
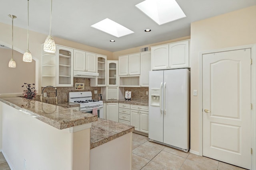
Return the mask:
[[214,159],[207,158],[207,157],[204,157],[204,156],[198,156],[198,155],[195,155],[195,154],[192,154],[192,153],[190,153],[188,155],[187,159],[192,160],[194,162],[198,162],[200,164],[204,164],[206,166],[210,166],[212,168],[218,168],[218,164],[219,164],[218,160],[214,160]]

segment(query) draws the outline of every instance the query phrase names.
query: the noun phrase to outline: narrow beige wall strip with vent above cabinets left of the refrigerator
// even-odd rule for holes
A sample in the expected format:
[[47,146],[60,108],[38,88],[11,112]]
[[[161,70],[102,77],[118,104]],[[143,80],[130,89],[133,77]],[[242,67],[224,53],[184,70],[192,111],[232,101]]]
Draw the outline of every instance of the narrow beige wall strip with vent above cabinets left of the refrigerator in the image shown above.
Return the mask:
[[162,42],[148,44],[148,45],[143,45],[143,46],[135,47],[135,48],[132,48],[132,49],[116,51],[116,52],[113,53],[112,60],[118,60],[118,56],[120,56],[120,55],[139,53],[140,52],[140,48],[142,48],[142,47],[148,47],[148,50],[150,51],[151,50],[150,47],[152,47],[152,46],[166,44],[166,43],[172,43],[172,42],[175,42],[175,41],[182,41],[184,39],[190,39],[190,36],[181,37],[181,38],[177,38],[177,39],[171,39],[171,40],[168,40],[168,41],[162,41]]

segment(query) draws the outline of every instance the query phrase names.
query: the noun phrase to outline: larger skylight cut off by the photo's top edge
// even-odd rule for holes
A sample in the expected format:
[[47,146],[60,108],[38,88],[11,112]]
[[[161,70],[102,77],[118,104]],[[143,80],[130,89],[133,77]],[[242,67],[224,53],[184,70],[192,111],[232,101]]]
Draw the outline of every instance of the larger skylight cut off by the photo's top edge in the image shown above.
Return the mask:
[[175,0],[145,0],[136,7],[158,25],[186,17]]

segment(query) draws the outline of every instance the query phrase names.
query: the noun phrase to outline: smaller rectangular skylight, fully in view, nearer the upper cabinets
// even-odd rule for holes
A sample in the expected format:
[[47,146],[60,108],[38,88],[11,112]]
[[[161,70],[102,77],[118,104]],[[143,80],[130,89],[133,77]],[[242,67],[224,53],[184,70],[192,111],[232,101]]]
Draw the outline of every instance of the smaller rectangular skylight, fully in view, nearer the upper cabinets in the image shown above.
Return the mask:
[[120,25],[119,23],[116,23],[115,21],[112,21],[108,18],[91,25],[91,27],[99,29],[100,31],[103,31],[110,35],[114,35],[115,37],[118,37],[118,38],[122,37],[124,35],[134,33],[130,29],[128,29],[128,28]]

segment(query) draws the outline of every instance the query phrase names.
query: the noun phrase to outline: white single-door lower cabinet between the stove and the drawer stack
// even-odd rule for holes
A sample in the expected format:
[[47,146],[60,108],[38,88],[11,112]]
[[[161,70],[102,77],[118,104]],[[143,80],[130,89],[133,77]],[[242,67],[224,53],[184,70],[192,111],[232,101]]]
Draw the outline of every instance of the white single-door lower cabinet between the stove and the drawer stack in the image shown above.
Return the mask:
[[118,103],[106,104],[106,119],[118,122]]

